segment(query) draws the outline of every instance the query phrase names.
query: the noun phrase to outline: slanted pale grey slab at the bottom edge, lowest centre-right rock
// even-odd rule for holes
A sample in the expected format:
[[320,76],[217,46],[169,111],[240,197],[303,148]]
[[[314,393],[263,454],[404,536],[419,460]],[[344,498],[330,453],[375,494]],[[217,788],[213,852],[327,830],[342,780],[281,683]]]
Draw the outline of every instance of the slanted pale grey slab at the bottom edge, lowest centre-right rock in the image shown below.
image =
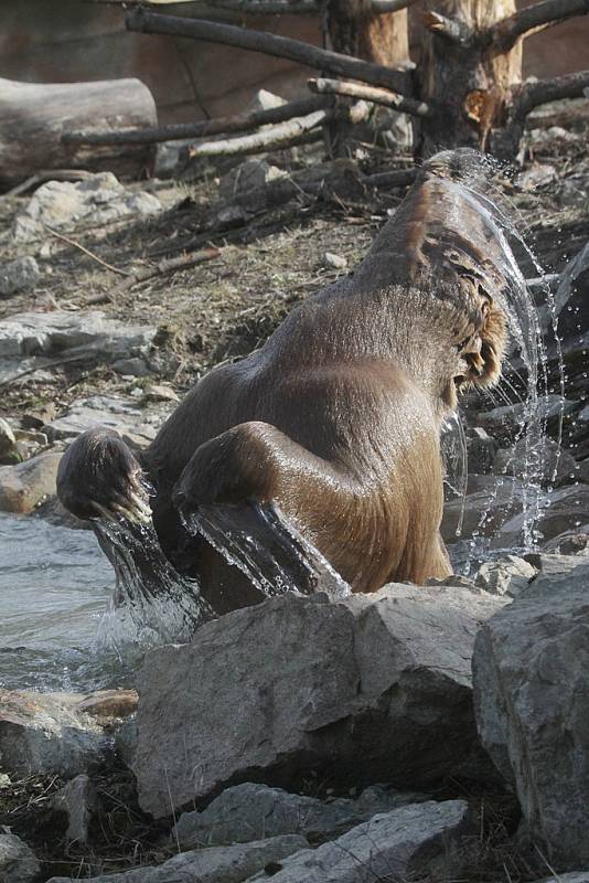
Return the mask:
[[[429,801],[375,816],[319,849],[296,852],[272,868],[275,883],[374,883],[406,880],[447,854],[468,828],[463,800]],[[253,880],[267,880],[264,872]]]

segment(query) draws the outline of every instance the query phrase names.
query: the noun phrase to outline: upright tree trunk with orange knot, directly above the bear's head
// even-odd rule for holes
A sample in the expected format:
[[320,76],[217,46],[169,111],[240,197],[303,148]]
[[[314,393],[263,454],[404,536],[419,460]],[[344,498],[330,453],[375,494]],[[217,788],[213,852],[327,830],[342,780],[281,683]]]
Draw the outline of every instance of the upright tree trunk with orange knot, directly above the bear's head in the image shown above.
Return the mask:
[[522,43],[501,51],[485,35],[515,12],[515,0],[428,0],[420,96],[438,107],[424,120],[420,152],[471,145],[485,150],[501,127],[510,87],[522,78]]

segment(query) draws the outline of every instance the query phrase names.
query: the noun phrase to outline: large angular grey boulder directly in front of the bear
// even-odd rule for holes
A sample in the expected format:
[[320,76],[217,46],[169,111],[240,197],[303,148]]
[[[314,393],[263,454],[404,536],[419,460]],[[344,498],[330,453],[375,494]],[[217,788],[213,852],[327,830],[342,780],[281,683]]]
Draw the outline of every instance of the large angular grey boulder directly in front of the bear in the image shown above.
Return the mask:
[[474,635],[503,603],[405,585],[336,604],[286,595],[154,650],[139,675],[141,806],[168,816],[261,775],[288,787],[303,769],[397,787],[456,774],[478,744]]

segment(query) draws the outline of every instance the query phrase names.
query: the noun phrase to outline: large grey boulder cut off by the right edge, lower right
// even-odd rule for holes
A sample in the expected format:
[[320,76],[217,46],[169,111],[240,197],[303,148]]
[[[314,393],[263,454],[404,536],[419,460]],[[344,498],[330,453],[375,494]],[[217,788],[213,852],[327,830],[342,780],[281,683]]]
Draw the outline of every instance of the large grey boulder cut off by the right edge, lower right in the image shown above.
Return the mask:
[[488,620],[473,670],[483,745],[557,870],[589,862],[589,562]]

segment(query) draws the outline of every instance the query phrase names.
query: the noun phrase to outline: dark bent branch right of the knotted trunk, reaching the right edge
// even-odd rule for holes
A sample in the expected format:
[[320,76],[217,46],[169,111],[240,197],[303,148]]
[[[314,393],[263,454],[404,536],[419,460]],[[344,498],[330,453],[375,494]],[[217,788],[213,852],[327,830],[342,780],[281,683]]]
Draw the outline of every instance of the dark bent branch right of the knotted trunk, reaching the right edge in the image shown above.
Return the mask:
[[588,87],[589,71],[578,71],[553,79],[537,79],[514,87],[507,123],[495,136],[494,152],[501,157],[515,156],[527,115],[535,107],[563,98],[581,98]]

